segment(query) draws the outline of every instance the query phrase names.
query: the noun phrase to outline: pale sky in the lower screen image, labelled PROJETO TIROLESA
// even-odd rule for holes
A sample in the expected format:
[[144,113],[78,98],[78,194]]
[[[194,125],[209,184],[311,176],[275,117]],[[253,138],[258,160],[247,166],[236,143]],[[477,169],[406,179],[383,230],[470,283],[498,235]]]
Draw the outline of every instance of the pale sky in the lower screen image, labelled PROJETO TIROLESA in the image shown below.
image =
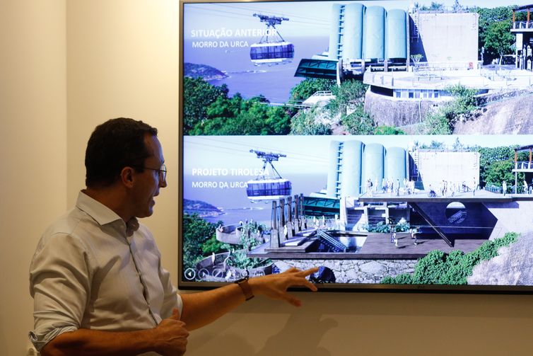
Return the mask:
[[380,143],[385,147],[407,148],[413,142],[431,141],[452,145],[459,138],[465,145],[498,147],[533,144],[533,135],[435,135],[435,136],[187,136],[184,139],[184,170],[193,168],[261,168],[262,161],[250,149],[286,154],[274,163],[283,174],[324,173],[328,167],[329,144],[332,140],[357,139],[365,144]]

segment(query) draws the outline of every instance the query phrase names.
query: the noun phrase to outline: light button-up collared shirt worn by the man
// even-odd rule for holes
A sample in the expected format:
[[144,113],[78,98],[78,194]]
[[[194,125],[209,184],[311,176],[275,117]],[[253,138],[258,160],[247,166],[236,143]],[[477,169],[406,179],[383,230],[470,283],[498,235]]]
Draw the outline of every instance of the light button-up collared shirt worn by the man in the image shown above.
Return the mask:
[[80,192],[76,207],[43,234],[30,265],[30,294],[40,350],[78,328],[134,331],[155,327],[182,301],[161,267],[150,231],[127,224]]

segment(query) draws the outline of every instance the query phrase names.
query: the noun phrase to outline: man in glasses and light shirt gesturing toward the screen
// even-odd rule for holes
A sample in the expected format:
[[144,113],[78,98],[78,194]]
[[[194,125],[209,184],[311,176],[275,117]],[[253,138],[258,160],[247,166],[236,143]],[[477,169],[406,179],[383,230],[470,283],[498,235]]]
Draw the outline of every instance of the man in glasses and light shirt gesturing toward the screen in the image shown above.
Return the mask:
[[290,286],[317,268],[242,280],[177,295],[150,231],[165,188],[157,130],[118,118],[96,127],[86,149],[86,186],[76,207],[45,231],[30,265],[35,328],[30,339],[49,355],[183,355],[189,331],[254,295],[299,306]]

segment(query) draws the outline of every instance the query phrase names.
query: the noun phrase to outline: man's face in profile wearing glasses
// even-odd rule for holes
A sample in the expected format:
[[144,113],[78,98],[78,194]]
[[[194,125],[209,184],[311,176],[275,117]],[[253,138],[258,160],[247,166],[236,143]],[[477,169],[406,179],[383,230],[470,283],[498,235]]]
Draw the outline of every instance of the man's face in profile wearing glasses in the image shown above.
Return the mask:
[[166,180],[161,179],[162,176],[158,171],[165,162],[163,149],[158,138],[147,134],[144,138],[144,144],[146,144],[148,151],[153,152],[153,154],[144,160],[144,171],[136,173],[134,185],[135,217],[151,216],[153,205],[156,204],[153,198],[159,195],[159,188],[167,186]]

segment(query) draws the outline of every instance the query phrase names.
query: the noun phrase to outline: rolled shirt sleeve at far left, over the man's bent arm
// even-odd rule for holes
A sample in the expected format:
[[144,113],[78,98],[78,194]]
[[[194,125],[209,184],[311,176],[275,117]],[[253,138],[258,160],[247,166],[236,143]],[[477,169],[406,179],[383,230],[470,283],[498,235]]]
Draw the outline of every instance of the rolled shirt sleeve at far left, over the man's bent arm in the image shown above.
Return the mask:
[[40,241],[30,264],[34,330],[29,336],[37,351],[80,328],[90,295],[89,271],[89,255],[78,239],[61,233]]

